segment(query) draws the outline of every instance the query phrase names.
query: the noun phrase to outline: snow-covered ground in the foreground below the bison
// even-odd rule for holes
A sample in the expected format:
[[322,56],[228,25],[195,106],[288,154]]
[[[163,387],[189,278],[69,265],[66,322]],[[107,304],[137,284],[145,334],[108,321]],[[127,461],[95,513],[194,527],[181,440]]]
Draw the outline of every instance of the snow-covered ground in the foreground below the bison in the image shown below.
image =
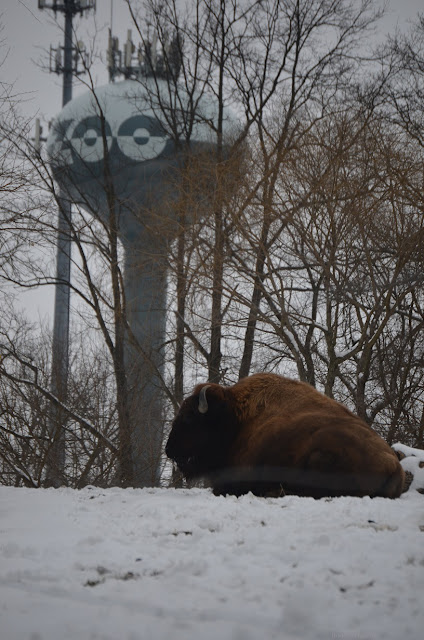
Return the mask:
[[423,594],[414,489],[0,487],[1,640],[422,640]]

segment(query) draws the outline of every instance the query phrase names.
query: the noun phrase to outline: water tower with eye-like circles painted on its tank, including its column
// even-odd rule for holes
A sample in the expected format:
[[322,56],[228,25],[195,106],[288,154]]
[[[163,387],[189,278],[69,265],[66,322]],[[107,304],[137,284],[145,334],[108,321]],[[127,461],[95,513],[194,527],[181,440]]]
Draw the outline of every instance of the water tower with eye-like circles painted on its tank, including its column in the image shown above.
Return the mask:
[[[161,108],[155,107],[158,86]],[[181,95],[178,112],[170,107],[173,98],[164,80],[108,84],[69,102],[47,141],[55,178],[70,200],[105,224],[111,207],[119,219],[127,313],[138,343],[133,347],[128,341],[126,353],[134,387],[130,411],[137,486],[155,485],[160,468],[166,252],[175,233],[169,175],[180,153],[167,133],[166,119],[172,116],[175,124],[177,116],[178,126],[180,117],[183,130],[189,99],[184,104]],[[216,112],[213,102],[199,102],[191,150],[213,144],[205,122],[215,119]]]

